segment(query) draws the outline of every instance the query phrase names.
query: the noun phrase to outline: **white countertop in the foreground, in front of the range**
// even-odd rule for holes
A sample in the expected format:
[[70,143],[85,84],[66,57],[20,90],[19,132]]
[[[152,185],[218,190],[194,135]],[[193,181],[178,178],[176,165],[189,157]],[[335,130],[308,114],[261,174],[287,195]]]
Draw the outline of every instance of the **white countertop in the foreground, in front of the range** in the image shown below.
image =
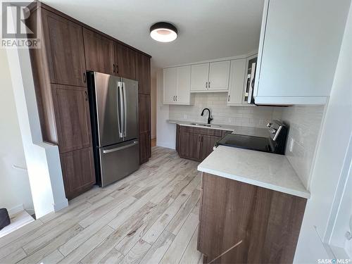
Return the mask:
[[198,170],[306,199],[310,197],[283,155],[218,146],[199,164]]

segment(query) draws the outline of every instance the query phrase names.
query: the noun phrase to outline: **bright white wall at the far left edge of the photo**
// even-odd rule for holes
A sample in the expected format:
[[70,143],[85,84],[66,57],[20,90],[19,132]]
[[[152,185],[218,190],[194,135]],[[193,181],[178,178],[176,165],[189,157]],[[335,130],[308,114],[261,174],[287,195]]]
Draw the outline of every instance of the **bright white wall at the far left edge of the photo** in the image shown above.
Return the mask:
[[34,210],[6,51],[0,49],[0,208]]

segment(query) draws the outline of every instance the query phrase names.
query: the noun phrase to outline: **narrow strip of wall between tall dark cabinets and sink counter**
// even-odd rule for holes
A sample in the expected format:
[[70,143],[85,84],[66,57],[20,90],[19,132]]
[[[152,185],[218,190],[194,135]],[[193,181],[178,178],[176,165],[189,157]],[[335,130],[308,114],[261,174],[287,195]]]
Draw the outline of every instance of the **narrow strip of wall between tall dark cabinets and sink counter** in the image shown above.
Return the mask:
[[175,149],[176,125],[169,124],[169,106],[163,104],[163,69],[156,70],[156,146]]

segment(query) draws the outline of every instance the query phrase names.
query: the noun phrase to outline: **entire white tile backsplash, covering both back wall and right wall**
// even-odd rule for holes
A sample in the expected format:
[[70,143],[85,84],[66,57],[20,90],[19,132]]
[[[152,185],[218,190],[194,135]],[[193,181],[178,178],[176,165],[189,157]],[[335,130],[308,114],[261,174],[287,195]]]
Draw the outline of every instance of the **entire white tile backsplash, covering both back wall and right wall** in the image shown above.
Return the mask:
[[210,108],[214,118],[212,122],[216,124],[266,127],[272,119],[287,123],[289,134],[285,155],[305,187],[309,188],[310,170],[325,106],[227,106],[225,93],[199,93],[194,96],[194,106],[170,105],[169,118],[206,122],[208,111],[203,116],[201,111]]

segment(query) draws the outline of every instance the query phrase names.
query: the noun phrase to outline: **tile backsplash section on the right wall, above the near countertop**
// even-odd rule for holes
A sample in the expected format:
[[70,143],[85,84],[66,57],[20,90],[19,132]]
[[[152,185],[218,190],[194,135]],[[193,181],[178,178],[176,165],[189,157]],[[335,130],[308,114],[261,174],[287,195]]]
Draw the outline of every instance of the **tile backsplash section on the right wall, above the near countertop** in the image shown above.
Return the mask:
[[275,110],[272,115],[274,119],[289,125],[285,155],[308,189],[324,108],[325,106],[289,106]]

